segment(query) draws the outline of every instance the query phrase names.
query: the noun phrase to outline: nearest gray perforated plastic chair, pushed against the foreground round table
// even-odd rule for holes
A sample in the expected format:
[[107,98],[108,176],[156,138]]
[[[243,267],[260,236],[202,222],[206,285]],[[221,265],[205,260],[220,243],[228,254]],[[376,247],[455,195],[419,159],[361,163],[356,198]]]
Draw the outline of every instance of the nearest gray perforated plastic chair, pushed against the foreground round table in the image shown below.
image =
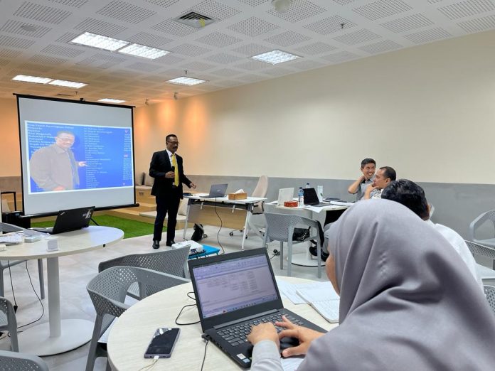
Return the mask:
[[[143,299],[158,291],[169,289],[169,287],[185,284],[189,280],[138,267],[111,267],[97,274],[86,287],[96,311],[86,371],[93,370],[97,357],[107,357],[107,350],[99,345],[98,339],[105,333],[115,317],[119,317],[129,308],[124,300],[129,286],[134,282],[139,285],[139,299]],[[110,370],[108,361],[107,370]]]

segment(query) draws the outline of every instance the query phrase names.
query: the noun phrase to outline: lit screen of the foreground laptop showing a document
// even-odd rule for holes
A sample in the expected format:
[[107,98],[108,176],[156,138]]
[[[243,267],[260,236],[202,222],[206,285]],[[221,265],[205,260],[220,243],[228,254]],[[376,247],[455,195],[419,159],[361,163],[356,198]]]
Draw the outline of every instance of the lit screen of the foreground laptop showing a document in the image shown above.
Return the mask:
[[194,267],[196,298],[203,318],[278,299],[265,254]]

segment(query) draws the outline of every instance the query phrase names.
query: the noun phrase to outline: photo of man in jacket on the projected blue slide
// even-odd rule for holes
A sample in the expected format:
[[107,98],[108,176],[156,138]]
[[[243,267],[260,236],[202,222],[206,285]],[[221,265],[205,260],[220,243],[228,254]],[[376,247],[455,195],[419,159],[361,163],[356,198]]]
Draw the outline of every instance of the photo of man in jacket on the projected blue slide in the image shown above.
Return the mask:
[[36,150],[31,156],[29,167],[31,178],[43,190],[71,190],[79,185],[80,167],[85,161],[77,161],[72,149],[75,135],[72,131],[60,130],[55,143]]

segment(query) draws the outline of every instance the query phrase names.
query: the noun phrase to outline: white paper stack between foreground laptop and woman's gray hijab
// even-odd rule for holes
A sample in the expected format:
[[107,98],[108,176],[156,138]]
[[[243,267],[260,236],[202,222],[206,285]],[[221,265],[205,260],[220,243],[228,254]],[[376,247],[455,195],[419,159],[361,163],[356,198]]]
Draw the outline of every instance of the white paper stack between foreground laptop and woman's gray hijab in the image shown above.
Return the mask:
[[339,295],[330,282],[297,285],[297,294],[311,305],[326,321],[339,322]]

